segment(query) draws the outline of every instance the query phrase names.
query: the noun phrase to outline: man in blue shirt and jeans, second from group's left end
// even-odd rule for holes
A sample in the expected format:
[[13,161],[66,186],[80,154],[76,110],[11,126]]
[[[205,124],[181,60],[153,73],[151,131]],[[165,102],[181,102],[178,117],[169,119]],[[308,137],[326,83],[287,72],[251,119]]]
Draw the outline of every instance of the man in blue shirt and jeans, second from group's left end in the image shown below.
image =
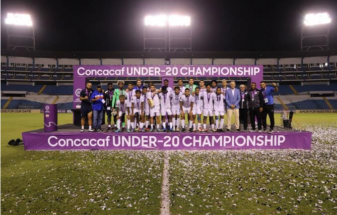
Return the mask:
[[103,119],[103,105],[105,103],[104,93],[101,85],[97,85],[96,90],[91,94],[93,119],[94,119],[94,132],[102,131],[101,124]]

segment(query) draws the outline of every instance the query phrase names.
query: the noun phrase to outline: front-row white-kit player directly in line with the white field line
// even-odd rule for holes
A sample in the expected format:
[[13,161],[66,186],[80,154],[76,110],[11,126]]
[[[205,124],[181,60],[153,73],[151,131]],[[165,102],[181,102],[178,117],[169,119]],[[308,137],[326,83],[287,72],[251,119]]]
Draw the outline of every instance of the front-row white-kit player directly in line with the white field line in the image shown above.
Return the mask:
[[[171,110],[171,99],[172,99],[172,92],[168,91],[166,86],[161,87],[161,93],[159,93],[160,99],[160,107],[161,107],[161,121],[163,124],[162,131],[173,131],[173,124],[172,124],[172,110]],[[166,128],[166,114],[169,122],[170,128]]]

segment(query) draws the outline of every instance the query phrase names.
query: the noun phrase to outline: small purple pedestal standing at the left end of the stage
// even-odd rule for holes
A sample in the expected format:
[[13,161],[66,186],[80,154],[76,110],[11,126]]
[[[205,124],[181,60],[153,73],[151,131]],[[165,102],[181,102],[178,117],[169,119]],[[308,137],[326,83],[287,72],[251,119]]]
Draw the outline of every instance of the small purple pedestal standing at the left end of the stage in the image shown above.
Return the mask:
[[58,109],[56,104],[43,105],[43,118],[45,132],[53,132],[58,130]]

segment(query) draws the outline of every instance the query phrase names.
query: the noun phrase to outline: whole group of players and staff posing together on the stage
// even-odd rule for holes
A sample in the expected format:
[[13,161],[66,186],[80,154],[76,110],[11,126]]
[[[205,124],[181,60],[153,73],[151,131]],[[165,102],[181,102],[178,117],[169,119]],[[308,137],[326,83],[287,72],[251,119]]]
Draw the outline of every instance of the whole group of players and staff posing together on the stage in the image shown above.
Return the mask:
[[[89,132],[102,132],[103,114],[106,114],[107,131],[114,132],[256,132],[257,125],[259,133],[273,133],[273,92],[278,91],[275,83],[266,86],[261,81],[258,88],[257,83],[252,82],[250,86],[241,84],[236,88],[235,81],[227,86],[225,79],[221,86],[216,80],[207,84],[200,80],[199,86],[194,84],[193,78],[188,82],[184,85],[183,80],[178,79],[171,88],[165,79],[164,85],[156,89],[151,81],[145,86],[137,79],[135,85],[129,82],[125,87],[126,83],[120,80],[117,88],[110,82],[105,90],[101,85],[94,89],[88,82],[80,92],[80,132],[85,131],[86,118]],[[234,129],[231,128],[232,115]],[[270,118],[269,130],[267,116]]]

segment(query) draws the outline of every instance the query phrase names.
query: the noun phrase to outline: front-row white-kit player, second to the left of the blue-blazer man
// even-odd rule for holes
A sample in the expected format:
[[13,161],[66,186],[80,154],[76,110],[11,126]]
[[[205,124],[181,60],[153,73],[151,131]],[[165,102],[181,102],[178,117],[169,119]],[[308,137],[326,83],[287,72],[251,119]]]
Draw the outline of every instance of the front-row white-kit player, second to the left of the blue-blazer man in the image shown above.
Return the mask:
[[214,130],[214,119],[213,119],[213,99],[215,97],[215,93],[211,90],[210,84],[206,85],[206,92],[203,92],[202,99],[203,99],[203,132],[207,132],[206,123],[207,123],[207,116],[209,116],[209,124],[211,125],[212,130]]

